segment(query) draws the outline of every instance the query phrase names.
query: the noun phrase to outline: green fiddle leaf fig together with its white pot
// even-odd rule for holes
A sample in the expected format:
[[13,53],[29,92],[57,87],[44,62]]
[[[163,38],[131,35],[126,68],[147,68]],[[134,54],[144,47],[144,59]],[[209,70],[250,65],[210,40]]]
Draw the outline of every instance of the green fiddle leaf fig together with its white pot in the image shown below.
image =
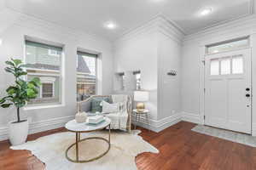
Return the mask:
[[20,120],[20,108],[24,107],[30,99],[38,96],[38,88],[41,85],[38,77],[26,82],[22,79],[27,74],[26,65],[20,59],[11,59],[5,62],[8,66],[4,69],[15,77],[15,83],[6,89],[6,96],[0,99],[0,106],[9,108],[15,106],[17,120],[9,122],[9,140],[12,145],[26,142],[28,134],[28,121]]

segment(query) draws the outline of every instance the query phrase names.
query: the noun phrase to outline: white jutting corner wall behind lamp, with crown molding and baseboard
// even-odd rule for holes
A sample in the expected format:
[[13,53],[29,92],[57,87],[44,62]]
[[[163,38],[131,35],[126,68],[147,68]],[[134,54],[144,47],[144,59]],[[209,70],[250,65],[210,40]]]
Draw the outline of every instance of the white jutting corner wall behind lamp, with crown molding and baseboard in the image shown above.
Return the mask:
[[[114,43],[114,71],[140,70],[142,88],[149,91],[149,123],[145,119],[136,123],[156,132],[180,120],[182,37],[175,26],[159,16]],[[177,77],[167,76],[171,70],[178,72]],[[118,81],[114,87],[119,87],[115,83]]]

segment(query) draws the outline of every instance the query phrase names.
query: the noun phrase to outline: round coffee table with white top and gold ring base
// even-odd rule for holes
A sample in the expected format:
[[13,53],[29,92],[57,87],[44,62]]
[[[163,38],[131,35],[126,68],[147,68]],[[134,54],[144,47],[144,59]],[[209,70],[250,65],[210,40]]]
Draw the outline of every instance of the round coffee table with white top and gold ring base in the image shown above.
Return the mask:
[[[67,128],[67,130],[69,132],[76,133],[76,142],[71,144],[66,150],[66,157],[67,157],[68,161],[73,161],[76,163],[95,161],[95,160],[101,158],[102,156],[105,156],[108,153],[108,151],[110,150],[110,123],[111,123],[111,120],[108,117],[104,117],[104,119],[105,119],[105,121],[99,123],[98,125],[89,125],[86,122],[77,123],[75,120],[72,120],[72,121],[66,123],[65,127]],[[90,138],[80,139],[80,133],[96,132],[96,131],[102,130],[105,127],[108,127],[108,139],[104,139],[102,137],[90,137]],[[90,140],[90,139],[99,139],[99,140],[103,140],[103,141],[107,142],[108,149],[105,150],[100,156],[96,156],[96,157],[93,157],[88,160],[80,160],[79,159],[79,143],[83,142],[84,140]],[[74,146],[75,146],[75,150],[76,150],[76,157],[71,158],[68,156],[68,150],[70,150]]]

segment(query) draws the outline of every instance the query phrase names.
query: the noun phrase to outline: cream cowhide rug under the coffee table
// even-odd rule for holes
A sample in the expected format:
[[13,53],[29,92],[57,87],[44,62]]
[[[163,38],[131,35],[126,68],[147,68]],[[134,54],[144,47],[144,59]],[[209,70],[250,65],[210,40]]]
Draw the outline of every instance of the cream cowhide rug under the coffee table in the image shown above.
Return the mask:
[[[43,161],[46,169],[49,170],[136,170],[135,157],[138,154],[143,152],[159,153],[159,150],[138,136],[138,133],[140,133],[138,130],[131,133],[112,131],[111,148],[107,155],[87,163],[67,161],[65,151],[70,144],[75,142],[75,133],[70,132],[51,134],[10,148],[13,150],[31,150],[32,154]],[[87,137],[108,139],[108,131],[81,133],[81,139]],[[106,150],[107,146],[101,140],[84,141],[79,143],[79,157],[88,159],[97,156]],[[74,156],[75,150],[70,150],[69,154]]]

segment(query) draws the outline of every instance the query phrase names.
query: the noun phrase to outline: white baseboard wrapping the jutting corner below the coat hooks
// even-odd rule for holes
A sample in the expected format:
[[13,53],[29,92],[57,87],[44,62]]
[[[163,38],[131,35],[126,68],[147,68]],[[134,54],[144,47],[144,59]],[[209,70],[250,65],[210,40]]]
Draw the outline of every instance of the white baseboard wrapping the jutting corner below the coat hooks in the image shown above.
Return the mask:
[[160,131],[164,130],[167,127],[171,127],[172,125],[176,124],[177,122],[181,121],[181,114],[177,113],[174,116],[168,116],[161,120],[154,120],[150,119],[147,120],[145,117],[141,117],[140,122],[136,121],[136,116],[132,115],[131,120],[134,124],[140,127],[144,127],[147,129],[150,129],[156,133],[159,133]]

